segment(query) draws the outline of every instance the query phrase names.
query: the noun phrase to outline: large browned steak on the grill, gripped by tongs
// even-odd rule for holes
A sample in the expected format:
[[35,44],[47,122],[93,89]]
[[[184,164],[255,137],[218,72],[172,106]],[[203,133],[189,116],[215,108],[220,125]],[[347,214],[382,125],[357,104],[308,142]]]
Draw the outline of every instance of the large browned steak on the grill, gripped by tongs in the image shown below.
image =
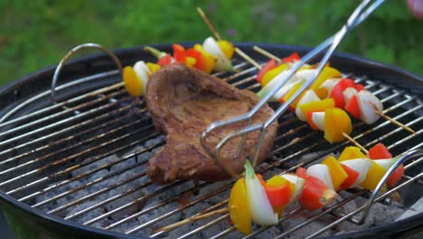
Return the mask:
[[[166,145],[150,158],[147,174],[157,183],[175,179],[219,181],[230,175],[202,148],[202,131],[218,119],[230,119],[248,112],[258,97],[251,91],[241,91],[230,84],[188,68],[183,64],[163,67],[147,83],[146,103],[155,128],[167,135]],[[252,124],[264,122],[274,113],[263,106]],[[231,132],[243,129],[246,122],[231,124],[213,131],[206,144],[214,148]],[[259,131],[250,133],[239,158],[236,155],[240,138],[230,139],[222,148],[222,162],[232,172],[243,170],[246,157],[253,157]],[[258,160],[268,156],[277,133],[277,122],[271,124],[260,148]]]

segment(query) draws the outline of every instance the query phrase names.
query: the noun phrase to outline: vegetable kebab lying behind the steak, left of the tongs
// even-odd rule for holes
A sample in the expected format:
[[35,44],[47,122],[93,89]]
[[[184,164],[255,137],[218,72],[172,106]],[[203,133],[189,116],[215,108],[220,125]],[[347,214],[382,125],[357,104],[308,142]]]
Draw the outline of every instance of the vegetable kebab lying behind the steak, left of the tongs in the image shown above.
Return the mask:
[[208,37],[202,44],[197,43],[186,50],[180,44],[173,44],[172,46],[173,55],[146,46],[146,52],[152,53],[158,61],[156,63],[139,61],[133,66],[124,68],[123,81],[130,95],[138,97],[146,94],[146,82],[150,79],[150,76],[161,66],[174,62],[182,62],[207,73],[233,71],[230,59],[233,56],[234,47],[228,41],[216,41],[213,37]]

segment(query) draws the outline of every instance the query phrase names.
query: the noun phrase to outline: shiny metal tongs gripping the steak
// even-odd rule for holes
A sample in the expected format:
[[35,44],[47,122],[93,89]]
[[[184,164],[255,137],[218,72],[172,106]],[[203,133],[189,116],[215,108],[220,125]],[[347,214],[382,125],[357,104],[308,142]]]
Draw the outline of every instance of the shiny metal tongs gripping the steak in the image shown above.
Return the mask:
[[[278,117],[280,117],[287,109],[288,106],[294,101],[296,100],[296,98],[298,98],[301,93],[303,91],[305,91],[307,88],[309,88],[312,83],[317,79],[317,77],[319,76],[320,72],[322,72],[322,70],[324,69],[324,65],[326,64],[326,62],[328,62],[329,58],[332,56],[332,54],[334,53],[334,50],[336,49],[336,47],[339,45],[339,43],[341,43],[343,41],[343,37],[347,34],[350,33],[353,28],[355,28],[356,26],[358,26],[359,24],[361,24],[367,17],[369,17],[369,15],[371,15],[371,13],[373,11],[375,11],[381,4],[383,4],[385,0],[376,0],[376,1],[371,1],[371,0],[363,0],[362,3],[353,11],[353,14],[350,15],[350,17],[348,18],[346,24],[343,24],[343,27],[341,28],[341,30],[339,30],[337,33],[335,33],[333,36],[329,37],[328,39],[326,39],[323,43],[320,43],[317,47],[315,47],[315,49],[313,49],[311,52],[306,53],[302,58],[301,61],[296,62],[296,64],[290,69],[290,71],[287,74],[279,74],[276,76],[277,77],[282,77],[283,79],[277,83],[277,85],[275,86],[274,89],[272,89],[271,91],[268,92],[268,94],[258,102],[258,104],[256,104],[251,110],[249,110],[249,112],[234,117],[232,119],[225,119],[225,120],[218,120],[215,121],[213,123],[211,123],[209,125],[209,127],[204,130],[202,132],[202,137],[201,137],[201,142],[202,142],[202,147],[205,148],[210,154],[211,156],[213,156],[218,164],[230,175],[232,176],[237,176],[237,174],[235,172],[233,172],[229,167],[227,167],[222,158],[221,158],[221,148],[224,147],[224,145],[230,140],[230,139],[234,139],[236,137],[240,137],[242,136],[242,139],[240,140],[240,145],[239,148],[236,152],[236,155],[234,156],[234,158],[238,158],[240,155],[241,150],[244,148],[245,145],[245,140],[247,137],[247,134],[254,132],[256,130],[261,130],[261,134],[260,134],[260,138],[258,139],[258,144],[256,146],[256,149],[254,151],[254,158],[252,158],[252,163],[253,166],[256,166],[257,161],[258,161],[258,152],[259,152],[259,148],[261,147],[261,144],[263,142],[264,136],[266,131],[268,130],[268,127],[270,126],[270,124],[277,119]],[[258,112],[258,110],[265,104],[268,102],[268,100],[277,92],[279,91],[280,88],[282,88],[282,86],[287,83],[287,81],[296,73],[296,71],[305,63],[312,61],[313,59],[315,59],[315,57],[317,55],[319,55],[320,53],[323,53],[324,50],[327,50],[326,53],[324,53],[324,57],[322,59],[322,61],[319,63],[318,67],[317,67],[317,72],[315,73],[315,75],[308,79],[307,81],[305,81],[305,83],[301,86],[301,88],[296,91],[296,93],[289,98],[289,100],[287,100],[286,102],[284,102],[275,112],[275,114],[273,114],[265,123],[261,123],[261,124],[255,124],[255,125],[251,125],[251,120],[252,117]],[[247,127],[245,127],[244,129],[239,130],[238,132],[232,133],[230,135],[228,135],[226,138],[221,139],[221,141],[219,142],[219,144],[216,145],[215,148],[209,148],[206,144],[206,139],[207,137],[210,136],[211,132],[213,130],[219,129],[221,127],[225,127],[227,125],[236,123],[236,122],[240,122],[240,121],[247,121]]]

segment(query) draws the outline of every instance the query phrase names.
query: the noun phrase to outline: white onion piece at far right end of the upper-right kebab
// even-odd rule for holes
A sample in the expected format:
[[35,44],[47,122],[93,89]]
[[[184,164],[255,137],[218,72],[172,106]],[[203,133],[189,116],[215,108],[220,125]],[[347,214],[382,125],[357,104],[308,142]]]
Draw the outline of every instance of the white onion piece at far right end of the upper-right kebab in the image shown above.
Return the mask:
[[374,108],[379,111],[383,110],[381,100],[374,96],[370,91],[364,90],[358,92],[357,100],[359,103],[360,115],[362,116],[362,121],[364,121],[364,123],[372,124],[381,118],[381,116],[374,111]]

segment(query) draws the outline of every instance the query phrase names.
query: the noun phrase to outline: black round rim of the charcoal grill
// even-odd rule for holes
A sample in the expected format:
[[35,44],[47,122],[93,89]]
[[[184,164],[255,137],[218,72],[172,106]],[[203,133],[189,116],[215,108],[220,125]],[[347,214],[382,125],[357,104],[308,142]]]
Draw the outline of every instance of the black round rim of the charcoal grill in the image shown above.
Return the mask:
[[[190,46],[193,45],[193,43],[182,43],[184,46]],[[276,43],[234,43],[236,46],[240,47],[240,49],[249,55],[252,56],[258,56],[257,53],[254,53],[252,51],[253,45],[258,45],[264,49],[269,49],[273,53],[280,53],[280,55],[284,55],[287,53],[292,52],[298,52],[298,53],[306,53],[311,50],[309,47],[303,47],[303,46],[289,46],[289,45],[283,45],[283,44],[276,44]],[[165,44],[154,44],[152,45],[162,51],[170,52],[172,49],[172,45],[170,43]],[[132,48],[123,48],[123,49],[117,49],[113,51],[116,53],[119,57],[119,59],[122,61],[122,63],[129,64],[132,62],[135,62],[139,59],[144,59],[146,61],[153,61],[153,58],[148,55],[147,53],[144,53],[142,49],[144,48],[144,45],[138,46],[138,47],[132,47]],[[264,59],[264,58],[263,58]],[[96,68],[96,62],[107,62],[108,63],[108,70],[115,69],[114,62],[110,61],[108,59],[108,56],[104,53],[96,53],[96,54],[89,54],[87,56],[83,56],[77,59],[72,59],[64,68],[64,72],[62,73],[62,77],[66,78],[61,80],[62,83],[65,81],[69,81],[70,79],[74,79],[74,74],[69,74],[69,72],[75,72],[75,71],[84,71],[87,69],[87,67],[93,67],[93,69],[89,69],[87,72],[97,71]],[[353,70],[346,70],[345,72],[354,72],[355,74],[365,74],[369,77],[376,76],[378,80],[383,81],[385,79],[385,76],[389,76],[390,79],[393,79],[394,82],[401,83],[404,81],[411,82],[411,84],[415,87],[418,85],[417,91],[421,91],[423,89],[423,79],[419,77],[417,74],[404,71],[396,66],[387,65],[381,62],[375,62],[370,59],[365,59],[360,56],[351,54],[351,53],[335,53],[333,58],[331,59],[331,63],[334,65],[334,67],[340,69],[341,71],[345,71],[343,69],[348,67],[353,67],[354,69],[358,69],[359,71],[353,71]],[[99,66],[99,68],[104,68],[103,66]],[[66,71],[66,69],[70,69]],[[21,79],[18,79],[16,81],[11,81],[8,84],[6,84],[4,87],[0,88],[0,99],[2,98],[8,98],[10,94],[14,94],[14,91],[21,88],[23,85],[27,88],[31,88],[33,84],[39,83],[39,81],[46,81],[47,85],[50,84],[50,81],[52,79],[52,74],[55,70],[55,66],[44,68],[38,72],[33,72],[29,75],[24,76]],[[100,71],[101,69],[99,69]],[[69,74],[69,75],[68,75]],[[84,73],[85,74],[85,73]],[[92,74],[92,73],[90,73]],[[396,80],[395,80],[396,79]],[[28,85],[30,87],[28,87]],[[401,88],[405,88],[408,91],[413,91],[415,89],[410,89],[406,85],[401,84]],[[48,89],[47,89],[48,90]],[[39,92],[39,91],[36,91]],[[28,97],[31,97],[32,94],[24,94],[28,95]],[[417,97],[419,95],[417,94]],[[14,105],[20,103],[22,100],[25,100],[26,98],[22,98],[20,100],[13,101],[12,104],[6,104],[6,106],[0,110],[0,115],[3,115],[6,111],[10,110]],[[419,99],[419,97],[418,97]],[[84,226],[80,225],[78,223],[74,223],[70,220],[65,220],[59,216],[55,215],[48,215],[46,213],[43,213],[41,210],[34,209],[29,205],[24,204],[23,202],[18,202],[13,196],[8,196],[5,194],[5,192],[0,191],[0,202],[3,208],[7,208],[8,212],[10,210],[19,209],[21,210],[20,214],[29,214],[36,220],[41,221],[35,221],[35,224],[37,225],[45,225],[50,224],[54,225],[54,230],[66,232],[69,231],[69,234],[75,234],[75,229],[78,229],[78,234],[83,236],[104,236],[110,237],[110,238],[140,238],[139,236],[134,236],[130,234],[120,234],[115,233],[113,231],[107,231],[102,229],[97,229],[94,227]],[[17,207],[17,208],[16,208]],[[12,212],[15,213],[15,212]],[[26,217],[24,218],[26,220]],[[389,229],[391,233],[396,233],[394,230],[391,230],[392,228],[409,228],[408,225],[421,225],[423,224],[423,212],[419,213],[418,215],[411,216],[409,218],[406,218],[404,220],[400,220],[398,222],[391,223],[389,225],[383,225],[378,226],[370,229],[365,229],[359,232],[352,232],[347,233],[349,236],[354,236],[360,234],[363,235],[376,235],[378,232],[386,231]],[[64,227],[63,227],[64,226]],[[42,227],[41,227],[42,228]],[[334,237],[336,238],[336,236]]]

